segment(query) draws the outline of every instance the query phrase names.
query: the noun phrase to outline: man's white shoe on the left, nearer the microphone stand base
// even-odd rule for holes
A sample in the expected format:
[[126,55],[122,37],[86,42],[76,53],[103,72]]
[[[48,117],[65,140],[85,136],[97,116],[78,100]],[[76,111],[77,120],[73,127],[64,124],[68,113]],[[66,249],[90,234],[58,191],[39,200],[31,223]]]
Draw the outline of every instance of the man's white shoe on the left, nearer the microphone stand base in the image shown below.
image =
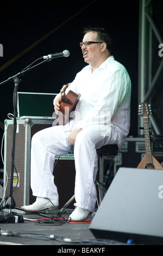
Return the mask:
[[[51,200],[52,203],[49,200]],[[47,208],[48,210],[53,210],[54,208],[58,209],[59,200],[49,200],[47,198],[37,197],[35,203],[30,205],[23,205],[21,209],[25,211],[41,211]]]

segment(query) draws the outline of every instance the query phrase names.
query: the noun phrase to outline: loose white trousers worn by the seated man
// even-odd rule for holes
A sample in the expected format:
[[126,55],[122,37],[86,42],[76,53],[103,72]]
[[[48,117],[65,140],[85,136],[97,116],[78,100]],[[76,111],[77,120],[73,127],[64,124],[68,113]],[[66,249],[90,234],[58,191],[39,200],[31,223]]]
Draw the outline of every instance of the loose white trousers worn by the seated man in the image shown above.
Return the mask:
[[[102,136],[105,127],[102,127],[102,130],[96,128],[86,127],[80,131],[74,144],[76,205],[91,212],[95,208],[97,197],[95,187],[98,170],[96,148],[105,144],[117,143],[117,132],[113,128],[111,128],[110,135],[105,137]],[[65,126],[59,125],[41,130],[33,136],[30,180],[34,196],[59,198],[57,187],[54,184],[53,168],[55,157],[71,151],[71,145],[67,142],[69,133],[70,131],[65,131]]]

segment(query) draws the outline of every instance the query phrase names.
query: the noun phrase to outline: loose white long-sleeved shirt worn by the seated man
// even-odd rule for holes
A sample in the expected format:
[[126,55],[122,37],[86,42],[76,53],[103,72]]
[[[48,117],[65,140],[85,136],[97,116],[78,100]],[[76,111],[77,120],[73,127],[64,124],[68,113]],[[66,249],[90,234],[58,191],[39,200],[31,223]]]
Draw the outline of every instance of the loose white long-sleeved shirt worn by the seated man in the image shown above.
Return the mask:
[[70,126],[84,129],[92,124],[111,123],[117,130],[118,147],[121,149],[130,128],[131,82],[124,66],[113,56],[93,73],[91,66],[87,65],[78,72],[66,93],[69,90],[80,94],[80,100],[71,114],[74,118],[65,129],[70,129]]

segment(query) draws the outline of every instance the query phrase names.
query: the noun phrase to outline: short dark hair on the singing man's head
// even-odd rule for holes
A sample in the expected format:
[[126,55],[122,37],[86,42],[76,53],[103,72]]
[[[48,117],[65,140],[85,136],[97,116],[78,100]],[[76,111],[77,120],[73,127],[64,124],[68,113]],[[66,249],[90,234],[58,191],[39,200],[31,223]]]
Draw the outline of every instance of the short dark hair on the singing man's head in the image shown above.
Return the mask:
[[105,28],[86,27],[83,29],[83,34],[86,34],[87,32],[97,32],[97,40],[101,42],[105,42],[106,48],[111,54],[112,38]]

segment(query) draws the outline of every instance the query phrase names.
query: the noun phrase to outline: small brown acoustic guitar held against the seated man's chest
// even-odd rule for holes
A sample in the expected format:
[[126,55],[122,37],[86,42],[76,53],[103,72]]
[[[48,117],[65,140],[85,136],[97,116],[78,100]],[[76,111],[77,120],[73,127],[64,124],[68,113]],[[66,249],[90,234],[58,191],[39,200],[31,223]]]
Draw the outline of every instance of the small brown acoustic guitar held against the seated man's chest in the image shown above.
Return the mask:
[[65,90],[68,86],[70,86],[70,83],[64,84],[64,86],[60,90],[60,111],[56,118],[57,123],[59,123],[60,125],[65,125],[67,123],[70,118],[70,113],[74,111],[80,99],[80,95],[74,93],[72,90],[70,90],[67,94],[65,93]]

